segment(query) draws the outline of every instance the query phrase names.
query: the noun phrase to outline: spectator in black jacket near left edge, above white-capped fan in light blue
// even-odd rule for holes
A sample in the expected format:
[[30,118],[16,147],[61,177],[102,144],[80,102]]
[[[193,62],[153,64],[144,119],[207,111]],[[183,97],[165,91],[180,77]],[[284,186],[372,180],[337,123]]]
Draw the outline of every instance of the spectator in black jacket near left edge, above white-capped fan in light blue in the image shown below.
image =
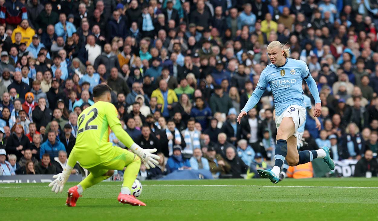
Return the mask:
[[6,141],[6,150],[9,154],[16,155],[17,159],[21,159],[22,151],[32,149],[28,137],[21,125],[15,125],[14,132]]

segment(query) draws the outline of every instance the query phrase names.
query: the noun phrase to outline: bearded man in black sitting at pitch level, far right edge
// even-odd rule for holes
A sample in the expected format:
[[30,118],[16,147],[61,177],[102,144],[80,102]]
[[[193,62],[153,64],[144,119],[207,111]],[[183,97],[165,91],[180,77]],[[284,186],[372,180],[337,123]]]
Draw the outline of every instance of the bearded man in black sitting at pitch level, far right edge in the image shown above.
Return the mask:
[[363,159],[358,160],[355,167],[354,176],[368,176],[367,173],[371,173],[371,176],[377,176],[378,163],[373,159],[373,151],[366,150]]

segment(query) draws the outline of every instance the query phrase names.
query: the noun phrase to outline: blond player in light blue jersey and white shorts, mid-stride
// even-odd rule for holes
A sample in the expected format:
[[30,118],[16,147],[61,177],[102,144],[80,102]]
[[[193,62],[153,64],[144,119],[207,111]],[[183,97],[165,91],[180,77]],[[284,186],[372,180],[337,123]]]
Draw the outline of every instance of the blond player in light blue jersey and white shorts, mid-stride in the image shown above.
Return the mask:
[[331,170],[335,169],[327,146],[316,151],[298,152],[297,150],[296,131],[302,126],[306,117],[302,79],[307,82],[315,99],[313,117],[319,117],[322,111],[319,92],[307,65],[302,60],[289,58],[289,50],[285,49],[279,41],[270,42],[266,51],[271,64],[264,68],[256,89],[237,118],[240,123],[241,118],[256,106],[269,83],[276,109],[277,145],[272,170],[259,169],[257,172],[260,176],[268,177],[273,184],[276,184],[279,182],[280,170],[285,159],[288,165],[296,166],[310,162],[315,158],[323,158]]

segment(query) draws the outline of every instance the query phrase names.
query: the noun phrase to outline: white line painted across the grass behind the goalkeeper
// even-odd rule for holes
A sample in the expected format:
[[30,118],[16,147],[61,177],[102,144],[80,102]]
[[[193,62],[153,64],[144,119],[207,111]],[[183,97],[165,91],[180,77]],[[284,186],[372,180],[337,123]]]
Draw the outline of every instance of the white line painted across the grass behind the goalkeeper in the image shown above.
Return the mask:
[[[101,186],[114,186],[114,185],[101,185]],[[144,186],[163,186],[163,187],[288,187],[288,188],[350,188],[350,189],[378,189],[378,187],[316,187],[316,186],[259,186],[259,185],[186,185],[186,184],[144,184]],[[46,188],[44,186],[25,186],[26,188]],[[2,187],[2,188],[25,188],[25,187]]]

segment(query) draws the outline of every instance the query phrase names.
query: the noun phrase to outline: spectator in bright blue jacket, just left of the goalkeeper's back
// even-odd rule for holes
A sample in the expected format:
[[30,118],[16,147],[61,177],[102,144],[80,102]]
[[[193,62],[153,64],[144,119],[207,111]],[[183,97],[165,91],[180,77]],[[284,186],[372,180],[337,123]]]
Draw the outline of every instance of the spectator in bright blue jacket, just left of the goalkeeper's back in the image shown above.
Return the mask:
[[[50,163],[50,157],[54,159],[54,157],[58,156],[58,152],[60,150],[66,151],[62,142],[59,141],[57,137],[56,131],[49,131],[48,132],[48,140],[42,143],[40,148],[40,159],[43,162],[44,167],[47,168],[48,164]],[[48,162],[46,159],[46,155],[48,155]],[[54,168],[55,169],[55,168]]]

